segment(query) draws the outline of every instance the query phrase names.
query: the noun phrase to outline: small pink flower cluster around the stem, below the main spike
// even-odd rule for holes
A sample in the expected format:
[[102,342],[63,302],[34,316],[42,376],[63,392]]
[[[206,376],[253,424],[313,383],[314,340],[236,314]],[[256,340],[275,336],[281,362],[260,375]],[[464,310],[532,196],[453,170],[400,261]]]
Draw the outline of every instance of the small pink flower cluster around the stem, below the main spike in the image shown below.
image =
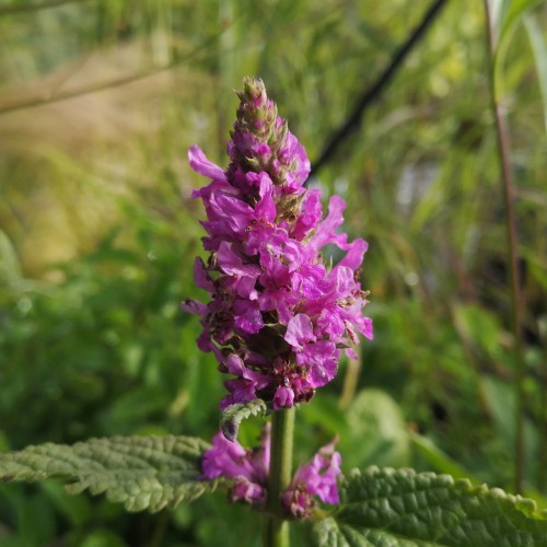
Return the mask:
[[[269,426],[269,424],[268,424]],[[268,469],[270,466],[270,430],[263,431],[261,445],[245,450],[238,442],[229,441],[222,432],[212,440],[212,447],[203,455],[203,480],[218,477],[233,479],[231,501],[244,501],[264,508],[267,499]],[[316,505],[314,496],[330,504],[339,503],[337,478],[341,457],[335,442],[323,446],[311,462],[301,465],[289,488],[281,494],[281,505],[295,519],[312,515]]]

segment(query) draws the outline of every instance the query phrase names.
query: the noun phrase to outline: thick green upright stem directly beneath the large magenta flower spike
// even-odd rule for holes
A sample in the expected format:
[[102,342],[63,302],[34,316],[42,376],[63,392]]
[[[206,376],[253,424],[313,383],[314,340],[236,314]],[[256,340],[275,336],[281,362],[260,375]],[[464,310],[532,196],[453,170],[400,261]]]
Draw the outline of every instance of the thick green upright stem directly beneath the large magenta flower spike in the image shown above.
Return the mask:
[[264,524],[265,547],[289,547],[290,545],[289,523],[282,513],[280,496],[291,481],[293,434],[294,407],[274,412],[267,515]]

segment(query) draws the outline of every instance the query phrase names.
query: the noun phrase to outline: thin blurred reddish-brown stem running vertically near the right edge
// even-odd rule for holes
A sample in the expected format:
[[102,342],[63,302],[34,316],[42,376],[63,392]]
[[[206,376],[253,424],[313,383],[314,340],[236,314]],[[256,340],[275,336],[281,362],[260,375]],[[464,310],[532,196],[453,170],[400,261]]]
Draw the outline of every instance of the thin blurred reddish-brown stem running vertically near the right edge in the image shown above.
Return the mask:
[[496,120],[496,133],[498,140],[498,155],[501,167],[501,181],[503,187],[503,198],[505,201],[505,218],[508,228],[508,263],[509,277],[511,283],[511,328],[513,331],[514,345],[514,388],[516,395],[515,416],[515,469],[514,489],[522,492],[524,480],[524,356],[522,341],[522,294],[521,280],[519,275],[519,240],[516,233],[516,214],[514,210],[515,185],[509,161],[510,143],[505,110],[500,104],[496,90],[496,50],[498,38],[493,14],[490,10],[490,1],[485,0],[487,35],[488,35],[488,72],[490,75],[490,101],[493,117]]

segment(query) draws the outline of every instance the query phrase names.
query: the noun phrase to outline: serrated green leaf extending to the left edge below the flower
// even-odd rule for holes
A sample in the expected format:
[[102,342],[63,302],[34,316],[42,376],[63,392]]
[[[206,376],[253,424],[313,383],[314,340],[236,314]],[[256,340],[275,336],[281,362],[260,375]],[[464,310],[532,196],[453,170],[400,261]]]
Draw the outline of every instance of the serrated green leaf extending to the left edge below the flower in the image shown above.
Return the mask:
[[66,490],[106,493],[128,511],[152,512],[191,501],[216,488],[200,481],[200,459],[209,444],[189,437],[113,437],[72,446],[46,443],[0,454],[0,479],[69,481]]

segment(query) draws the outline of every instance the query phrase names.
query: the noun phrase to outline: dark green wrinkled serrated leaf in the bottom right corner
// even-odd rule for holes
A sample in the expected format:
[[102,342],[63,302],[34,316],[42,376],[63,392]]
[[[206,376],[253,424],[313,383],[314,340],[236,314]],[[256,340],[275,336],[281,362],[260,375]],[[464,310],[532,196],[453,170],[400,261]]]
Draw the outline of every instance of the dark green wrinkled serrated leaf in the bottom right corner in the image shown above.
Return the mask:
[[313,525],[316,545],[547,545],[547,511],[532,500],[449,475],[356,469],[340,496],[339,509]]

